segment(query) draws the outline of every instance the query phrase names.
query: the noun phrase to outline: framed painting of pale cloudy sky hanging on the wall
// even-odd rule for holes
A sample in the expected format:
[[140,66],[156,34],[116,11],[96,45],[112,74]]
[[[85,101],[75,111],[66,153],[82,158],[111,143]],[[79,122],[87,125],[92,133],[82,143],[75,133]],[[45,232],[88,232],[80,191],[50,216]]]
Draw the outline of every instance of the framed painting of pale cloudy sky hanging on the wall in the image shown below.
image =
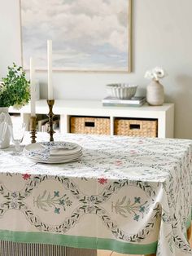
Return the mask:
[[22,63],[47,69],[130,72],[131,0],[20,0]]

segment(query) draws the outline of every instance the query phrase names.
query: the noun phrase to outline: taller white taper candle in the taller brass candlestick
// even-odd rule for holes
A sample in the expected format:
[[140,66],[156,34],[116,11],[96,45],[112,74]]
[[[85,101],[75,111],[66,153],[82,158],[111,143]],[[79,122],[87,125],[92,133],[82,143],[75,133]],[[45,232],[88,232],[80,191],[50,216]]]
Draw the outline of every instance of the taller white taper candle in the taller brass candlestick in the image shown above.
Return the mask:
[[52,40],[47,40],[48,63],[48,99],[54,99],[53,74],[52,74]]

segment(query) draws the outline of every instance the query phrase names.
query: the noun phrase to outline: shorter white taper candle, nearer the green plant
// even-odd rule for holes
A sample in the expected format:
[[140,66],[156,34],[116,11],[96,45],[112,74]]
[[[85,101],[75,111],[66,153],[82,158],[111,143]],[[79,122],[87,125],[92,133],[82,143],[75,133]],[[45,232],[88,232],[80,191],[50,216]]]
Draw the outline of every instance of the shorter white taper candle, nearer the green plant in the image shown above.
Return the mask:
[[31,91],[31,116],[35,117],[35,68],[34,60],[30,58],[30,91]]

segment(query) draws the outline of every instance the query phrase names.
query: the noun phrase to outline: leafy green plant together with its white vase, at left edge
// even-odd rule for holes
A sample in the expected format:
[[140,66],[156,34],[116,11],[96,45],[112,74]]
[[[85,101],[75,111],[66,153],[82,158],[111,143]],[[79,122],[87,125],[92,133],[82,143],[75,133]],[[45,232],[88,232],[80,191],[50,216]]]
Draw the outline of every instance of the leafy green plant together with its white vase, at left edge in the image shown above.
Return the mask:
[[[30,99],[30,86],[26,78],[26,73],[22,67],[15,63],[8,67],[7,77],[2,78],[0,84],[0,132],[1,124],[7,122],[11,125],[11,118],[8,108],[14,106],[20,108],[27,104]],[[0,144],[0,148],[7,148],[10,143],[10,134],[7,129],[5,139]]]

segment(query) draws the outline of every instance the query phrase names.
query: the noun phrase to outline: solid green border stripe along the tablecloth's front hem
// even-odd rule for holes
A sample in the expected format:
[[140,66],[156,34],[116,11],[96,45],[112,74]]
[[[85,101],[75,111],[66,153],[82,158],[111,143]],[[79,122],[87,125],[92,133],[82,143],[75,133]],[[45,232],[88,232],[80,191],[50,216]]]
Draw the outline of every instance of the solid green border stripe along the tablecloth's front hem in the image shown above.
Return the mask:
[[109,249],[120,254],[155,254],[157,242],[149,245],[134,245],[113,239],[86,236],[67,236],[41,232],[0,231],[0,240],[32,244],[63,245],[84,249]]

